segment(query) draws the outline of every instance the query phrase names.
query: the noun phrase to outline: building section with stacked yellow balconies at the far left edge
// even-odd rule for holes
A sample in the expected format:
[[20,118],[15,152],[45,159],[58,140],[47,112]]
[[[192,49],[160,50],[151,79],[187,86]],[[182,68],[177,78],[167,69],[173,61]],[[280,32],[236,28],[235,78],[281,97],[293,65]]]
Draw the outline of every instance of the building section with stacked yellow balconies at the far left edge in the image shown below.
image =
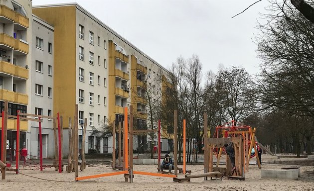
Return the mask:
[[[0,108],[8,101],[8,114],[27,112],[30,103],[31,1],[0,0]],[[1,125],[2,130],[2,125]],[[20,121],[20,148],[27,147],[29,124]],[[5,142],[5,141],[4,141]],[[7,160],[15,156],[16,119],[7,120]]]

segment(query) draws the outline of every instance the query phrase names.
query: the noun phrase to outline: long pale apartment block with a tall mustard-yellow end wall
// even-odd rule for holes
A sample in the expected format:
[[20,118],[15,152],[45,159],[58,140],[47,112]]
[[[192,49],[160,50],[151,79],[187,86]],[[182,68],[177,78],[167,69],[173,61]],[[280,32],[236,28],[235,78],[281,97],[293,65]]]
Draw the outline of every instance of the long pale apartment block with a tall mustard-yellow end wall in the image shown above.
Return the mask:
[[[157,79],[168,72],[77,3],[34,6],[32,11],[54,26],[53,112],[63,115],[66,129],[75,104],[79,105],[79,121],[87,118],[85,151],[112,152],[112,137],[90,133],[124,120],[124,107],[133,105],[136,128],[147,128],[147,93],[157,103],[161,97],[161,80]],[[79,145],[81,135],[79,131]],[[148,147],[147,143],[156,141],[144,136],[134,146],[142,142]]]

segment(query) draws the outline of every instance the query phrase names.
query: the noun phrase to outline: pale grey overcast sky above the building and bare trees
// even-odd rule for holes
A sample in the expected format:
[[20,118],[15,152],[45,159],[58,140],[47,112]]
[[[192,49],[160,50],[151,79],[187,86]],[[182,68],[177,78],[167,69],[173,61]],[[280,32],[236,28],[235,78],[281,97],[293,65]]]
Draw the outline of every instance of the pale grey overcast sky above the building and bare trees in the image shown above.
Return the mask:
[[253,42],[259,12],[256,0],[32,0],[33,5],[77,2],[160,65],[169,68],[182,55],[197,54],[203,71],[218,65],[259,71]]

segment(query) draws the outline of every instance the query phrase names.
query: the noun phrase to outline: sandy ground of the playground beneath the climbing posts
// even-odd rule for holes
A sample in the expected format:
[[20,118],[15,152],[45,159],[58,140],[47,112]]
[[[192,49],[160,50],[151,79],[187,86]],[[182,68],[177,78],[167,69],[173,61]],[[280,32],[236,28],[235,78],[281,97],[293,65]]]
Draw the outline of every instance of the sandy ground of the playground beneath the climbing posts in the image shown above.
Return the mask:
[[[266,155],[264,155],[266,156]],[[266,158],[266,157],[264,157]],[[250,165],[249,172],[245,172],[245,181],[222,180],[204,181],[204,178],[191,179],[190,183],[174,183],[172,178],[135,175],[134,183],[124,182],[123,175],[96,178],[75,182],[75,173],[58,173],[54,168],[39,170],[20,170],[20,174],[7,172],[6,179],[0,180],[0,191],[314,191],[314,166],[306,158],[281,158],[282,164],[266,164],[262,159],[262,169],[280,169],[281,167],[301,167],[299,180],[261,179],[261,170],[257,165]],[[269,160],[271,161],[271,160]],[[289,165],[284,164],[289,161]],[[297,164],[297,165],[296,165]],[[311,165],[311,166],[310,166]],[[178,165],[178,168],[181,168]],[[201,174],[203,165],[187,165],[186,169],[192,175]],[[134,165],[136,171],[157,172],[157,165]],[[108,165],[86,166],[79,172],[79,176],[88,176],[113,172]],[[184,176],[179,174],[178,178]],[[40,179],[39,179],[40,178]],[[49,181],[50,180],[50,181]]]

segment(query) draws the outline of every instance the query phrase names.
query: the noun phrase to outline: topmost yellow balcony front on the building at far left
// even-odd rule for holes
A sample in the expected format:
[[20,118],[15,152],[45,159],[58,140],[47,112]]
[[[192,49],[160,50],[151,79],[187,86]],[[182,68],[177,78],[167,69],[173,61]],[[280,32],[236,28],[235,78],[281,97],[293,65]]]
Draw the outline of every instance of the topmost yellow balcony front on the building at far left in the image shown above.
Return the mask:
[[[29,19],[5,5],[0,5],[0,21],[3,23],[15,22],[27,29],[29,27]],[[20,28],[18,28],[20,30]]]

